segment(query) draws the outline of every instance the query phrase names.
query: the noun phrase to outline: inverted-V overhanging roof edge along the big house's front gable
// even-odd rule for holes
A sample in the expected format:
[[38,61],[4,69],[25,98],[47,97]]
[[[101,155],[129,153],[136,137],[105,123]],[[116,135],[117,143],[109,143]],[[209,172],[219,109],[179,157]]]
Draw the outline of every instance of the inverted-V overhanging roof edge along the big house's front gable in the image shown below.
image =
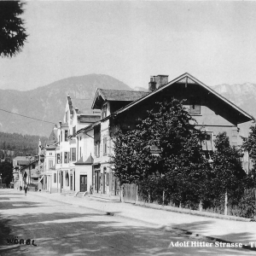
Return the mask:
[[195,79],[192,75],[190,75],[189,73],[184,73],[183,75],[177,77],[177,79],[173,79],[172,81],[170,81],[169,83],[161,86],[160,88],[158,88],[157,90],[152,91],[151,93],[149,93],[148,95],[145,95],[143,97],[141,97],[140,99],[138,99],[135,102],[131,102],[128,105],[126,105],[124,108],[120,108],[119,110],[117,110],[115,113],[112,113],[110,116],[108,116],[108,118],[110,118],[113,115],[117,115],[119,113],[123,113],[125,112],[127,109],[137,105],[139,102],[142,102],[145,99],[148,99],[150,96],[154,96],[155,94],[159,93],[162,90],[165,90],[166,87],[170,87],[172,86],[172,84],[176,84],[176,83],[185,83],[185,84],[199,84],[201,85],[203,88],[205,88],[206,90],[208,90],[209,92],[212,93],[212,95],[217,96],[220,100],[222,100],[223,102],[225,102],[226,104],[228,104],[231,108],[236,109],[236,111],[241,114],[243,116],[244,119],[246,119],[244,122],[253,120],[253,116],[246,113],[245,111],[243,111],[241,108],[237,107],[234,103],[230,102],[229,100],[227,100],[224,96],[221,96],[220,94],[218,94],[218,92],[216,92],[215,90],[212,90],[211,87],[207,86],[206,84],[203,84],[200,80]]

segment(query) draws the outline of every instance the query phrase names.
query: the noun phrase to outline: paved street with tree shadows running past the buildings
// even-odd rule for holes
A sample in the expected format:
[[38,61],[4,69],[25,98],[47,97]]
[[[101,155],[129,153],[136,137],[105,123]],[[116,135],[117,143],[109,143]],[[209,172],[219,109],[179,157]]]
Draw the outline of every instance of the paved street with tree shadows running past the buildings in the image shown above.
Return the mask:
[[[12,238],[31,239],[38,246],[8,245]],[[188,242],[189,247],[174,247],[177,241]],[[192,242],[198,247],[191,247]],[[212,247],[201,247],[206,242],[211,241],[0,189],[0,255],[255,255],[245,249],[215,247],[214,241]]]

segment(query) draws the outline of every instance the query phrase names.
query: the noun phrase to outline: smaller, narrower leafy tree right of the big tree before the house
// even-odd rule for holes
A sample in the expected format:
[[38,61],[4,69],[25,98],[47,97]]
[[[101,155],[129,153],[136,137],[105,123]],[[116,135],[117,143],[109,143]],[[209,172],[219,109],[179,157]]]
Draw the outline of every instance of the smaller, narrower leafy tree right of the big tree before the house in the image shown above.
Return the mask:
[[212,154],[212,168],[207,177],[207,190],[204,195],[206,207],[224,207],[224,197],[236,204],[244,193],[247,175],[241,165],[241,149],[230,146],[226,132],[216,136],[216,151]]

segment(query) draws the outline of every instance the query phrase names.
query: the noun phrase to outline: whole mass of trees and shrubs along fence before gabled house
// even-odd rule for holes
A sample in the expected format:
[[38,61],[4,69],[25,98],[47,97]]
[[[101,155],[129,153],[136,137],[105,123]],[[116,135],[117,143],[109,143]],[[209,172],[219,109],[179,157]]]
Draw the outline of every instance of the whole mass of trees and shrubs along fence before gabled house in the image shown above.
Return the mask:
[[[112,161],[120,184],[137,183],[143,201],[218,212],[224,210],[227,193],[231,207],[251,214],[244,208],[253,196],[244,195],[250,178],[242,169],[241,149],[219,133],[209,161],[201,147],[204,134],[195,125],[183,102],[172,100],[156,103],[135,130],[117,131]],[[160,154],[152,154],[152,146]]]

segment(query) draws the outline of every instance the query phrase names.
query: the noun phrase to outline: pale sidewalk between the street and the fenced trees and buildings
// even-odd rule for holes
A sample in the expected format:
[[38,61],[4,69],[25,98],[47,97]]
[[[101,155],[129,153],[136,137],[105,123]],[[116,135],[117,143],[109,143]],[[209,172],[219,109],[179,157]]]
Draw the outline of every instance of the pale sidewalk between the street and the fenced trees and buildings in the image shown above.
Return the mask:
[[[30,194],[52,201],[94,209],[112,216],[136,219],[154,224],[157,228],[163,230],[186,230],[193,236],[207,236],[220,241],[242,243],[244,247],[256,249],[256,222],[241,222],[178,212],[166,212],[129,203],[96,201],[86,196],[77,198],[70,195],[49,194],[46,192],[30,192]],[[250,242],[253,242],[254,248],[251,247]]]

